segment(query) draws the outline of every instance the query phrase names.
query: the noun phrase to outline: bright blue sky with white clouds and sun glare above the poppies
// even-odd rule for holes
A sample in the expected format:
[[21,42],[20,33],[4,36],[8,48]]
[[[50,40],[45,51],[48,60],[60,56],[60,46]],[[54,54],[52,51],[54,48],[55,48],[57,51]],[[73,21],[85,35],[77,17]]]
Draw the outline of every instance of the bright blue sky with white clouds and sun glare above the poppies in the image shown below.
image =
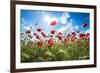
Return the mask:
[[[89,13],[82,12],[21,10],[21,32],[25,32],[31,26],[33,32],[35,32],[36,28],[41,28],[46,34],[50,30],[66,33],[70,33],[71,31],[86,33],[90,29],[89,17]],[[51,26],[50,23],[52,21],[56,21],[57,24]],[[82,27],[84,23],[87,24],[86,28]]]

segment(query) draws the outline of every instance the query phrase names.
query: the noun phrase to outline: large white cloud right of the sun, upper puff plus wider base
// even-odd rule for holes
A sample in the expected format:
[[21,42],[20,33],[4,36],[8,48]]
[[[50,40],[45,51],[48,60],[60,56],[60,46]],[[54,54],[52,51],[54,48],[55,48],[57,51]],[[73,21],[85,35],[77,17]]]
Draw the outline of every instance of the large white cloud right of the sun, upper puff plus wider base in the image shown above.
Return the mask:
[[[70,18],[70,20],[68,21],[68,18]],[[61,24],[64,24],[64,26],[61,26],[60,28],[57,29],[58,32],[62,32],[62,33],[70,33],[72,31],[78,30],[79,26],[78,25],[73,25],[73,19],[71,18],[69,13],[63,13],[62,16],[60,17],[59,22]]]

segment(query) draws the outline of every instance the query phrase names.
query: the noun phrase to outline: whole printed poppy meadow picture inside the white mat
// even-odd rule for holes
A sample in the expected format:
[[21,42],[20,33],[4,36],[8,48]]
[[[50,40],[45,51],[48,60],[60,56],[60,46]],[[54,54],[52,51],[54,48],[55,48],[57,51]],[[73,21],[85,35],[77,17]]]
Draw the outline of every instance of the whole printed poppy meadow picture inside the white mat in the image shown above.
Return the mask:
[[[45,15],[47,13],[51,14],[51,17]],[[72,61],[90,58],[88,13],[23,10],[21,15],[21,62]]]

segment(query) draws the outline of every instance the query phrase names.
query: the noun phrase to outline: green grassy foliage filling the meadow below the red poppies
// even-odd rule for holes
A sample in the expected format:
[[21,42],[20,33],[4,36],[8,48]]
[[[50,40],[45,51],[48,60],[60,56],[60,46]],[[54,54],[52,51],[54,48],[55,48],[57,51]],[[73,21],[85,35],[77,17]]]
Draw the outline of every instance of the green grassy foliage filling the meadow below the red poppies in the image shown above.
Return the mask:
[[62,42],[59,46],[51,47],[37,45],[32,47],[21,44],[21,62],[24,63],[86,59],[89,59],[89,45],[84,39],[79,42],[70,42],[68,45]]

